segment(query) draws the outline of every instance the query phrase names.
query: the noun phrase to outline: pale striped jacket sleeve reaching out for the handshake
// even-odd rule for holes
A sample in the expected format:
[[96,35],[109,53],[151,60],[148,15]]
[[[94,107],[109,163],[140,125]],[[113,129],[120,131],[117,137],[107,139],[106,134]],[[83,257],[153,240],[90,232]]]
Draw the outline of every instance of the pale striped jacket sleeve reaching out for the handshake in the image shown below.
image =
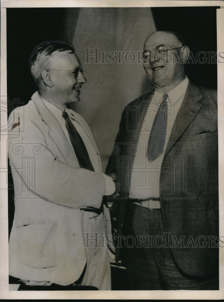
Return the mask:
[[[11,136],[13,133],[17,134]],[[21,161],[22,158],[33,156],[35,145],[39,151],[35,155],[34,177],[28,177]],[[47,145],[44,133],[32,121],[27,122],[24,131],[19,132],[18,126],[9,131],[8,157],[11,167],[20,175],[21,184],[24,183],[27,190],[31,191],[31,185],[35,182],[35,192],[57,204],[99,208],[103,195],[108,192],[113,194],[115,190],[112,178],[107,175],[104,177],[102,173],[74,168],[61,162]]]

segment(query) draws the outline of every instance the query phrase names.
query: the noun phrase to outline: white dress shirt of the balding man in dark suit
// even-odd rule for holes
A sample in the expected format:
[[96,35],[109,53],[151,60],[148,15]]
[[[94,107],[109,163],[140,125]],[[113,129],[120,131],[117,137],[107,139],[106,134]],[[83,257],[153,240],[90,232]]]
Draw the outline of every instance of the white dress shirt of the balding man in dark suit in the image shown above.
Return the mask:
[[[167,104],[167,130],[165,145],[168,143],[170,134],[175,131],[176,115],[182,104],[189,79],[186,77],[179,85],[174,87],[169,92],[169,102]],[[145,119],[140,130],[140,134],[136,134],[139,139],[138,144],[140,152],[134,157],[133,166],[131,168],[131,182],[130,182],[130,198],[156,198],[159,199],[160,191],[160,171],[163,163],[164,153],[160,154],[154,161],[150,162],[147,158],[148,140],[153,126],[153,121],[156,113],[163,100],[161,92],[154,91],[152,101],[146,110]]]

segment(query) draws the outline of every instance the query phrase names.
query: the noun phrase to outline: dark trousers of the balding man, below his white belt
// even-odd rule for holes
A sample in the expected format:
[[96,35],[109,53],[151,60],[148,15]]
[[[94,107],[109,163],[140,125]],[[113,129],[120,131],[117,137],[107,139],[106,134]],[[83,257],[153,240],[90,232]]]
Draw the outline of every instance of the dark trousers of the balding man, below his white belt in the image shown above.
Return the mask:
[[[149,210],[129,203],[124,247],[129,289],[218,290],[218,275],[208,279],[191,278],[176,267],[170,248],[161,246],[160,236],[164,236],[164,232],[160,209]],[[144,246],[140,238],[151,238],[151,241],[144,242]]]

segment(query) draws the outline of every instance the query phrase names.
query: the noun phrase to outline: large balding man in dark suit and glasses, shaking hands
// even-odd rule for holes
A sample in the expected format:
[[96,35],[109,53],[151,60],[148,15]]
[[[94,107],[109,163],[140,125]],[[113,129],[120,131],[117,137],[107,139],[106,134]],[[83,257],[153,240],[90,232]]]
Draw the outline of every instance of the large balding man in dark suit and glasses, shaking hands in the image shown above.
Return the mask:
[[188,56],[177,34],[147,38],[153,90],[127,104],[106,169],[133,290],[219,289],[217,96],[186,77]]

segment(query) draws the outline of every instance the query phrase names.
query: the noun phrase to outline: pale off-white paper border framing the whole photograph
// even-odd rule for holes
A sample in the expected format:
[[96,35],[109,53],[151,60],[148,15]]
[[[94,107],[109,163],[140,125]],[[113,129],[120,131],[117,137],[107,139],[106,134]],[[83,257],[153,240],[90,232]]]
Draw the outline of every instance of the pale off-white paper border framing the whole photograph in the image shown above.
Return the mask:
[[[7,102],[6,64],[6,8],[47,7],[177,7],[220,6],[217,10],[217,52],[224,49],[224,2],[222,1],[87,1],[87,0],[5,0],[1,2],[1,104]],[[224,234],[224,64],[218,63],[218,131],[219,131],[219,234]],[[7,110],[1,108],[1,127],[7,124]],[[1,133],[0,190],[0,297],[1,299],[141,299],[141,300],[209,300],[224,298],[224,248],[219,248],[219,291],[9,291],[8,284],[8,190],[7,188],[7,134]]]

